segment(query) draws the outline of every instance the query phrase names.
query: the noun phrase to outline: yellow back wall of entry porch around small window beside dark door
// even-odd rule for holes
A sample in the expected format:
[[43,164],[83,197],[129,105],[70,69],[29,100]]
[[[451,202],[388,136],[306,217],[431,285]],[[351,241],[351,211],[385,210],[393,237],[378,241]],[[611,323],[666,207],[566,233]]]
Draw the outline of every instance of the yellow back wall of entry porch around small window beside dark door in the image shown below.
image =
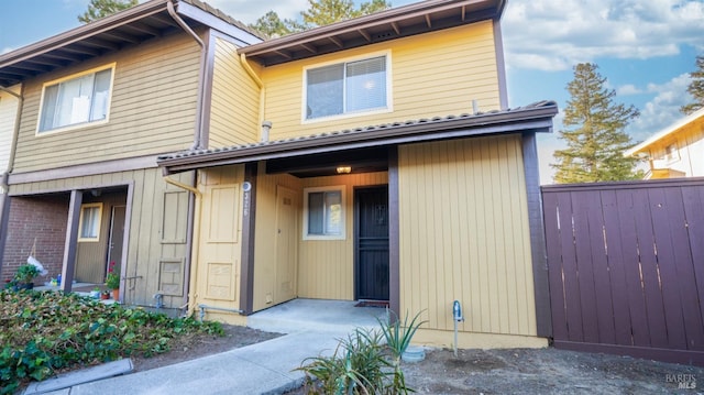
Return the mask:
[[304,188],[345,186],[345,239],[302,240],[302,229],[299,230],[299,297],[341,300],[354,298],[354,187],[387,183],[386,172],[304,179]]

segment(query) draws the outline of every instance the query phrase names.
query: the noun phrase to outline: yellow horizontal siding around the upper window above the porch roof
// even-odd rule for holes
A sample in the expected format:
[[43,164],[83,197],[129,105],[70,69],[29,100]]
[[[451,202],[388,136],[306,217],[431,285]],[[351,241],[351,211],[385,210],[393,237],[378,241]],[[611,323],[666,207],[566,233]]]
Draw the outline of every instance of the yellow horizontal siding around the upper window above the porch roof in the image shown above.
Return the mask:
[[[498,74],[491,21],[394,40],[310,59],[266,67],[264,118],[273,122],[271,139],[287,139],[331,130],[481,111],[499,105]],[[348,58],[391,56],[391,112],[360,113],[301,123],[304,68]]]

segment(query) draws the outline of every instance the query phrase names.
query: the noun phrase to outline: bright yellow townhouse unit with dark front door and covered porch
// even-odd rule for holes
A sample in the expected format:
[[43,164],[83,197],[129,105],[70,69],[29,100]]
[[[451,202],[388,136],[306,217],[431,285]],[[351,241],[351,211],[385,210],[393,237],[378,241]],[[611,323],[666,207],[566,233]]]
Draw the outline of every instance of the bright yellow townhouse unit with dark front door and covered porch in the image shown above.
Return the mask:
[[[422,311],[416,341],[550,336],[536,133],[509,109],[501,0],[429,0],[258,44],[216,42],[195,172],[189,309],[246,325],[294,298]],[[233,56],[234,55],[234,56]]]

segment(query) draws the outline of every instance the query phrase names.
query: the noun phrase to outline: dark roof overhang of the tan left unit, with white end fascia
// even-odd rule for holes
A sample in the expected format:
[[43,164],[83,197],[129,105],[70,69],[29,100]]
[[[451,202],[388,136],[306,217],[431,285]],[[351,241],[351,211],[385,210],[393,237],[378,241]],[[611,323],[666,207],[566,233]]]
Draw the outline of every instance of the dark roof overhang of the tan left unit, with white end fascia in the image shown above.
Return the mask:
[[261,41],[244,24],[199,0],[152,0],[0,55],[0,86],[9,87],[180,30],[169,6],[190,29],[208,25],[241,40],[243,45]]

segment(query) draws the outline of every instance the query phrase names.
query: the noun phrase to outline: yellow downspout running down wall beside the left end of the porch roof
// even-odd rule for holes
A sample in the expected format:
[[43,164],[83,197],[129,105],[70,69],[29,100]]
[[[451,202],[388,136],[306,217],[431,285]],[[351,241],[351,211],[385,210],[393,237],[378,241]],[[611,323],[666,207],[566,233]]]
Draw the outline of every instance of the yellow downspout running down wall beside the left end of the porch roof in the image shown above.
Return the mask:
[[[196,229],[196,220],[198,220],[198,223],[200,221],[200,211],[198,211],[198,218],[196,218],[196,198],[202,197],[200,190],[195,187],[195,185],[198,183],[198,171],[194,172],[194,186],[186,185],[168,177],[164,177],[164,182],[190,193],[188,195],[189,216],[186,223],[186,261],[184,262],[184,301],[182,305],[183,308],[186,309],[187,315],[190,315],[196,309],[196,306],[190,306],[191,298],[189,298],[190,289],[196,289],[196,278],[194,275],[194,278],[191,281],[190,268],[193,266],[194,256],[198,259],[198,245],[195,243],[195,233],[199,232],[199,229]],[[200,205],[198,205],[198,208],[200,209]]]

